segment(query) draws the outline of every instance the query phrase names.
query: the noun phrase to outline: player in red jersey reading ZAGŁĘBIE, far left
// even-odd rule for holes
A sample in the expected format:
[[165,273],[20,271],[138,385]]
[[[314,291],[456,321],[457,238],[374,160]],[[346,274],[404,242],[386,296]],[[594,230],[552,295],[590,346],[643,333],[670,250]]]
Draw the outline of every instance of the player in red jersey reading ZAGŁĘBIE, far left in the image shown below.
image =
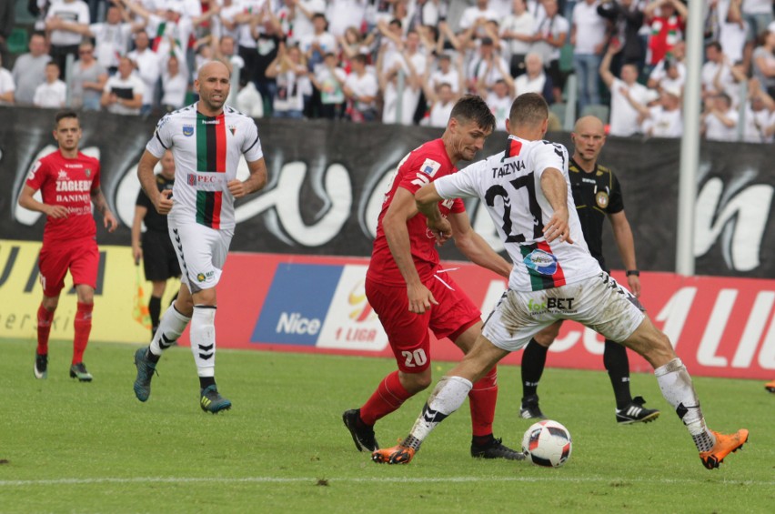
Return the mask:
[[[43,301],[37,309],[35,378],[48,376],[48,335],[69,269],[78,296],[70,377],[90,382],[92,375],[86,371],[84,351],[92,329],[99,265],[92,203],[103,216],[108,231],[116,230],[118,221],[107,207],[99,186],[99,161],[78,151],[81,125],[75,111],[56,113],[54,138],[59,149],[35,162],[19,197],[21,207],[42,212],[47,217],[38,257]],[[38,189],[43,202],[33,197]]]

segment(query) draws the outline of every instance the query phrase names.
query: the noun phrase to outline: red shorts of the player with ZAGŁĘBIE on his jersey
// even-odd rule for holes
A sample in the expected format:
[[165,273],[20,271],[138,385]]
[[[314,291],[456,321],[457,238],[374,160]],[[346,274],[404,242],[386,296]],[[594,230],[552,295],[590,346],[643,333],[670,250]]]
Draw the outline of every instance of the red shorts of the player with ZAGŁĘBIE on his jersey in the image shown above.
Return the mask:
[[73,286],[86,284],[96,288],[99,250],[92,238],[45,244],[37,260],[40,283],[46,297],[58,297],[65,287],[65,275],[70,269]]

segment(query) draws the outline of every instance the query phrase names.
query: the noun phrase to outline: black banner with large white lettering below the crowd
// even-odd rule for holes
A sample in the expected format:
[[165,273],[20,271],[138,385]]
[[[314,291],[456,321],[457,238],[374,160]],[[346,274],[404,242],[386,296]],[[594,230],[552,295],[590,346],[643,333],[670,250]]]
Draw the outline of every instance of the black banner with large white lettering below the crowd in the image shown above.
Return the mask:
[[[122,227],[100,244],[128,245],[139,184],[136,164],[154,120],[84,113],[84,152],[98,156],[102,186]],[[53,113],[4,108],[0,124],[0,173],[11,184],[0,190],[0,238],[40,240],[43,218],[15,207],[29,167],[54,150]],[[277,254],[367,257],[377,213],[398,162],[441,131],[310,120],[258,120],[269,182],[258,195],[237,200],[237,236],[232,250]],[[300,131],[299,128],[303,127]],[[503,133],[489,137],[480,156],[497,153]],[[568,134],[550,135],[570,145]],[[572,149],[572,146],[569,146]],[[612,167],[624,190],[640,267],[673,271],[676,255],[679,141],[610,137],[601,163]],[[706,276],[775,277],[775,167],[771,146],[703,144],[695,220],[696,272]],[[243,162],[241,176],[247,176]],[[468,211],[482,237],[502,250],[492,222],[476,201]],[[619,267],[616,245],[605,231],[610,267]],[[453,246],[443,257],[460,259]],[[769,257],[769,258],[768,258]]]

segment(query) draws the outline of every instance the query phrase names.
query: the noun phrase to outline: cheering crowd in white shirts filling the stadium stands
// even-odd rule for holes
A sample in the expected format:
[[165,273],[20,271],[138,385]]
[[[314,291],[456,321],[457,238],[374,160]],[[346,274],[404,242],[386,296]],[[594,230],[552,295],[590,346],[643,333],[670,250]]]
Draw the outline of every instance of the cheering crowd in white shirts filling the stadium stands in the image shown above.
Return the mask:
[[[773,141],[773,5],[703,2],[698,101],[708,139]],[[37,31],[12,71],[0,69],[0,105],[170,111],[192,101],[198,67],[219,59],[239,77],[230,101],[255,117],[445,126],[458,97],[477,93],[503,129],[513,98],[537,92],[552,106],[553,129],[575,98],[572,112],[603,117],[613,136],[683,130],[689,13],[681,0],[30,0],[29,7]],[[0,26],[0,35],[8,32]]]

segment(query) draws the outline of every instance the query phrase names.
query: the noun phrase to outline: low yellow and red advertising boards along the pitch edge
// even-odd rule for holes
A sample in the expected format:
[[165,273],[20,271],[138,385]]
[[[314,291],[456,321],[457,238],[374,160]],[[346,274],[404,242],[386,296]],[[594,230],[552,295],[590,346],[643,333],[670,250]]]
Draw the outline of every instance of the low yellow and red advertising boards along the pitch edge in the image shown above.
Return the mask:
[[[0,243],[0,329],[5,338],[35,340],[41,290],[35,259],[40,245]],[[486,317],[505,280],[470,263],[450,267]],[[216,334],[221,348],[255,348],[389,357],[387,337],[364,294],[367,259],[235,252],[218,285]],[[148,332],[138,309],[136,267],[127,247],[102,247],[93,339],[144,343]],[[614,277],[626,284],[620,272]],[[69,278],[68,278],[69,280]],[[66,282],[69,285],[69,282]],[[775,372],[775,280],[679,277],[643,273],[641,301],[698,376],[770,378]],[[141,282],[141,285],[148,285]],[[167,297],[176,287],[173,281]],[[75,295],[63,296],[52,337],[72,338]],[[187,344],[187,335],[181,339]],[[448,340],[433,343],[433,358],[457,360]],[[549,364],[602,369],[603,339],[566,323],[550,348]],[[520,353],[506,363],[519,362]],[[637,356],[633,371],[650,371]]]

